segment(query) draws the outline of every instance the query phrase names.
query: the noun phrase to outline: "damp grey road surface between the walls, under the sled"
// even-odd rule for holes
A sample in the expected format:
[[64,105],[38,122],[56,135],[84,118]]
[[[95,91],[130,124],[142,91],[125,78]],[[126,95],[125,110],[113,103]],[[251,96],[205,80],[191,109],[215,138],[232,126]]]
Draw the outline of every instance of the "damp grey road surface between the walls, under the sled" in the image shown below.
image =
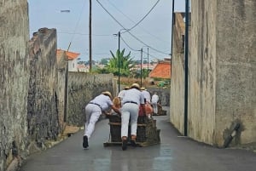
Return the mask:
[[167,117],[154,117],[160,128],[160,145],[104,147],[108,119],[96,124],[90,148],[82,148],[83,130],[55,147],[33,155],[21,171],[255,171],[251,151],[218,149],[181,137]]

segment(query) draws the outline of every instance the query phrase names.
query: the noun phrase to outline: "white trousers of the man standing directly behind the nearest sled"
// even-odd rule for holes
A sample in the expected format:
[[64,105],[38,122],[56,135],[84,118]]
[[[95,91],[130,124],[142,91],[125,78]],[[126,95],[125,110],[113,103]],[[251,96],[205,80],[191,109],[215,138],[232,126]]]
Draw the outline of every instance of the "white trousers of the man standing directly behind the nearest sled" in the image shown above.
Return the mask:
[[137,135],[137,117],[139,106],[133,103],[125,103],[122,107],[121,137],[128,137],[129,120],[131,118],[131,135]]

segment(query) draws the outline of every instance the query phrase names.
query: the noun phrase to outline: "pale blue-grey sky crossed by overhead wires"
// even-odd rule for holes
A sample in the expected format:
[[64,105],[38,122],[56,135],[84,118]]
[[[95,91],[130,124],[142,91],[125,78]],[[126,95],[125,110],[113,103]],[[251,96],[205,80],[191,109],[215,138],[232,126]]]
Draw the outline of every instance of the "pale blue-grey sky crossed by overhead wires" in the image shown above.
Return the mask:
[[[27,0],[30,37],[39,28],[55,28],[57,48],[89,60],[89,0]],[[172,0],[91,0],[92,60],[110,58],[125,48],[131,58],[162,60],[172,47]],[[44,7],[44,8],[43,8]],[[69,10],[69,12],[61,12]],[[185,11],[176,0],[175,12]],[[131,29],[130,31],[127,31]],[[119,37],[114,36],[120,31]]]

